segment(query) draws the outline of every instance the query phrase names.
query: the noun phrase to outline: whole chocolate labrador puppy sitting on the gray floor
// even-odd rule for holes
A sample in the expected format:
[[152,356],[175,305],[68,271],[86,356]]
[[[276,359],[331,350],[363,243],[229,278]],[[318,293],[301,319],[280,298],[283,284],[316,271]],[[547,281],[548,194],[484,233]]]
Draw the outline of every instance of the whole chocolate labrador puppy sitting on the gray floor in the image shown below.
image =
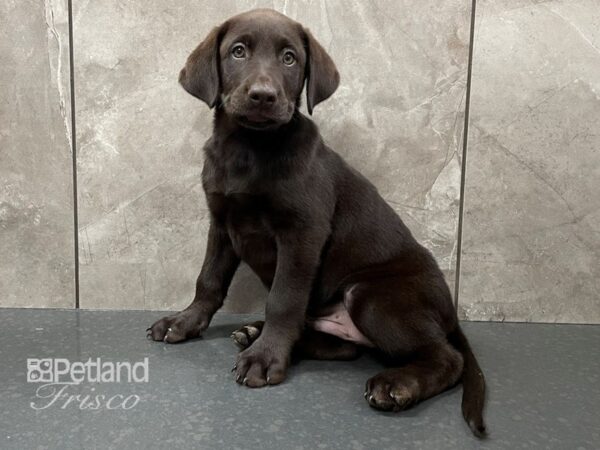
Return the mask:
[[245,261],[269,288],[265,321],[234,333],[238,383],[281,383],[294,352],[351,359],[373,349],[390,368],[367,381],[374,408],[399,411],[462,380],[463,415],[485,432],[485,383],[450,291],[375,187],[327,147],[299,111],[339,84],[323,47],[271,10],[214,28],[181,70],[215,109],[202,182],[211,212],[193,302],[148,329],[155,341],[199,336]]

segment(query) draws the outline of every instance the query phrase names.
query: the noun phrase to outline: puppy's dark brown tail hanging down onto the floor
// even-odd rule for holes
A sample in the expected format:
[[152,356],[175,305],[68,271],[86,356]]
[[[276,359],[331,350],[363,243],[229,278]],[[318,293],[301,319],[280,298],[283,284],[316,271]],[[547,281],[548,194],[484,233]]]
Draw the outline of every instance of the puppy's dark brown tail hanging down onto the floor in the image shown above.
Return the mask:
[[475,359],[469,341],[463,334],[460,326],[448,335],[448,340],[462,354],[464,369],[462,374],[463,399],[462,413],[469,428],[478,438],[486,435],[483,422],[483,405],[485,402],[485,378]]

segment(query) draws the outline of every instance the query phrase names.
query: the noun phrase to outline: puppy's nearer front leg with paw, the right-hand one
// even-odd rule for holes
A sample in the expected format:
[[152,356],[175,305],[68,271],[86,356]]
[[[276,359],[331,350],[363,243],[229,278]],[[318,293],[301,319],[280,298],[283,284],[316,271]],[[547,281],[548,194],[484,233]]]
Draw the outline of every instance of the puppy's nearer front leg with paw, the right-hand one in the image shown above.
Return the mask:
[[279,384],[300,338],[324,239],[287,233],[277,240],[277,268],[260,337],[238,354],[236,381],[250,387]]

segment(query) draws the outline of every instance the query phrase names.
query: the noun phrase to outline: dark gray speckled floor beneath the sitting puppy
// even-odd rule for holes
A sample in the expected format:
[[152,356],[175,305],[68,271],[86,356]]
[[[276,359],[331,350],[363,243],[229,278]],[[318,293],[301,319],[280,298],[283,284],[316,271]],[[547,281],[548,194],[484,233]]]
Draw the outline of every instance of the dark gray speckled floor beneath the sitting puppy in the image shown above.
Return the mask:
[[[379,413],[362,393],[380,366],[364,356],[302,361],[284,384],[252,390],[233,381],[229,339],[251,316],[217,315],[203,339],[177,345],[145,339],[161,316],[0,310],[0,448],[600,448],[600,326],[465,323],[489,386],[490,437],[481,443],[463,423],[460,387],[404,413]],[[27,358],[144,357],[148,383],[68,385],[51,404],[49,391],[36,396],[43,383],[27,382]],[[86,395],[139,403],[81,410]]]

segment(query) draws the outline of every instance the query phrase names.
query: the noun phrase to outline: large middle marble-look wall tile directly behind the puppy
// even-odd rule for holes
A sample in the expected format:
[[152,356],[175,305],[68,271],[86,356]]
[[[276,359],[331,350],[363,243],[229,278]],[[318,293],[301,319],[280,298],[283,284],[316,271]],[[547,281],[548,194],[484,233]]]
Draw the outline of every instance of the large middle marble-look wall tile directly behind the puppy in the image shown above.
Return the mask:
[[[342,83],[314,119],[454,283],[470,2],[74,0],[80,298],[84,308],[180,309],[208,228],[200,185],[211,112],[177,75],[216,24],[270,7],[311,28]],[[260,310],[241,271],[230,311]]]

